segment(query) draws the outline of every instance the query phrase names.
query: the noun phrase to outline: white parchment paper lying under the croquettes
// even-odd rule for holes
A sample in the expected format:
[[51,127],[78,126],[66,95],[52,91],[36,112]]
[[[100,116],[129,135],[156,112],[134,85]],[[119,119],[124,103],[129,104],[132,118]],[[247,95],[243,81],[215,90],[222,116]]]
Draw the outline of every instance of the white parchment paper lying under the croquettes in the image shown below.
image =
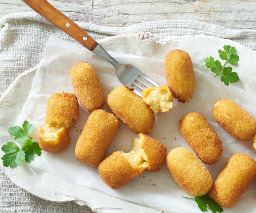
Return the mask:
[[[225,41],[228,42],[228,40]],[[230,85],[227,87],[219,79],[212,77],[210,69],[205,67],[203,61],[205,57],[210,55],[218,58],[217,50],[227,43],[224,43],[224,41],[223,43],[216,42],[216,44],[209,47],[205,46],[203,41],[194,44],[192,42],[191,46],[188,46],[187,43],[189,42],[174,41],[165,46],[159,45],[157,46],[159,50],[154,50],[150,58],[115,52],[109,53],[120,62],[131,63],[137,66],[161,85],[166,84],[164,56],[167,52],[176,48],[189,52],[196,76],[196,89],[193,94],[193,99],[187,103],[179,103],[174,100],[174,107],[170,112],[156,115],[154,130],[149,135],[165,144],[168,152],[179,146],[190,149],[179,131],[178,123],[185,114],[192,111],[200,112],[217,132],[224,147],[223,154],[219,161],[213,165],[206,165],[213,179],[215,179],[228,159],[236,152],[247,154],[256,159],[256,152],[252,146],[253,140],[248,142],[237,141],[219,127],[212,118],[212,107],[214,103],[223,98],[229,98],[235,101],[251,115],[256,117],[256,96],[255,93],[252,93],[252,88],[247,87],[246,78],[243,77],[246,75],[242,74],[244,72],[243,66],[248,69],[254,69],[254,73],[255,68],[252,65],[250,66],[250,64],[236,66],[234,70],[237,71],[242,78],[240,77],[240,82],[235,84],[235,86]],[[233,45],[235,42],[230,41],[230,43]],[[250,57],[255,58],[256,55],[255,52],[251,50],[248,50],[248,54],[246,52],[242,54],[242,52],[239,52],[239,48],[242,47],[242,45],[236,46],[240,56],[239,64],[244,64]],[[203,53],[201,53],[201,51]],[[24,120],[28,120],[35,125],[36,129],[33,133],[34,141],[38,139],[38,126],[44,125],[46,105],[50,95],[59,91],[74,92],[69,78],[69,70],[76,63],[85,61],[91,63],[95,68],[103,86],[105,98],[107,98],[108,93],[114,87],[121,85],[116,77],[114,68],[109,63],[92,54],[82,46],[62,41],[53,36],[50,37],[33,80],[28,100],[23,106],[22,112],[16,122],[16,125],[21,125]],[[103,109],[110,112],[106,104]],[[127,185],[118,190],[112,190],[101,180],[97,167],[88,166],[79,162],[74,157],[74,147],[89,114],[90,113],[80,105],[79,119],[75,127],[69,131],[71,141],[68,147],[57,154],[42,151],[42,155],[40,157],[37,156],[29,165],[38,167],[56,176],[66,178],[74,183],[96,188],[107,194],[141,203],[142,205],[159,207],[164,211],[173,210],[187,213],[201,212],[194,201],[185,200],[182,197],[193,196],[181,190],[181,187],[174,181],[165,165],[162,170],[157,173],[145,171]],[[132,149],[132,141],[136,135],[136,133],[121,123],[120,129],[113,142],[110,144],[106,156],[119,149],[129,152]],[[232,209],[225,208],[224,211],[244,212],[246,209],[248,213],[255,212],[255,189],[256,180],[254,179],[235,207]]]

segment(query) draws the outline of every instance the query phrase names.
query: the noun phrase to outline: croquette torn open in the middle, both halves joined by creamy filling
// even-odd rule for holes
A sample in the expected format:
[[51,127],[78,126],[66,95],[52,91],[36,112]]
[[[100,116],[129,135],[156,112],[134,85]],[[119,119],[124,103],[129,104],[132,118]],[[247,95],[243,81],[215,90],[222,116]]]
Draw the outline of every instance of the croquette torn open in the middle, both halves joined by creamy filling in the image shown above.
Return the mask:
[[159,171],[165,162],[166,147],[158,140],[140,133],[133,140],[133,149],[112,153],[99,164],[102,180],[112,189],[118,189],[144,170]]

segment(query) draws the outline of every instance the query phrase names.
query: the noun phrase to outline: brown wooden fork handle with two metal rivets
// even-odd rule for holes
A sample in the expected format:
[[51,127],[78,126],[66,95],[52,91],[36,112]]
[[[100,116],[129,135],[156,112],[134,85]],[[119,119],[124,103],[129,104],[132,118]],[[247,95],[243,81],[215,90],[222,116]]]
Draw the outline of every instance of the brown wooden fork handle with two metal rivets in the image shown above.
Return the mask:
[[78,25],[71,21],[67,16],[53,7],[46,0],[22,0],[29,7],[54,24],[56,27],[67,33],[81,45],[92,51],[97,42],[84,32]]

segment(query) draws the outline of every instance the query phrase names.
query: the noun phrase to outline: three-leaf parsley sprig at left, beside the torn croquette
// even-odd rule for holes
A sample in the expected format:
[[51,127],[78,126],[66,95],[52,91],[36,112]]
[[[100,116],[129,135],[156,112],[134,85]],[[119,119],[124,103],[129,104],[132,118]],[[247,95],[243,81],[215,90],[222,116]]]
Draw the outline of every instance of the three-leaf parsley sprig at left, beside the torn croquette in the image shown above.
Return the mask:
[[33,138],[29,136],[34,131],[35,126],[28,121],[24,121],[22,128],[20,126],[14,126],[8,129],[9,134],[14,137],[14,141],[19,143],[26,141],[26,143],[21,148],[13,141],[7,142],[7,144],[2,146],[1,149],[5,155],[1,159],[3,160],[3,165],[6,167],[20,166],[23,160],[30,162],[34,160],[35,155],[41,155],[39,144],[33,142]]

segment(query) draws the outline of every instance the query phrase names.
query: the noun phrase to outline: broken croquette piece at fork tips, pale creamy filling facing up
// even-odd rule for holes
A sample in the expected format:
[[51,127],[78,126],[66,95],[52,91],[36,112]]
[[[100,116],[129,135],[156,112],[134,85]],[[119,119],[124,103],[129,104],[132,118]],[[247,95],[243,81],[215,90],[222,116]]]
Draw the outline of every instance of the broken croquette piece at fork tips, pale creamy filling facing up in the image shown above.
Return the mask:
[[155,113],[169,112],[173,108],[173,95],[167,84],[145,88],[142,99]]

